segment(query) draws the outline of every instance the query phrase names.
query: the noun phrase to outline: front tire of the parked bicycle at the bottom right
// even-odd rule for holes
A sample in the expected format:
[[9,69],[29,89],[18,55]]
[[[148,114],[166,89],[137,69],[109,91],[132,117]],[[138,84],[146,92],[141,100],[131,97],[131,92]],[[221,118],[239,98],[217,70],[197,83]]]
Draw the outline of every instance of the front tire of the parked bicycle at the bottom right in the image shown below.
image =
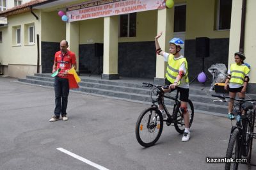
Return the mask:
[[[236,128],[229,139],[228,142],[228,148],[227,148],[227,153],[226,153],[226,158],[232,158],[232,155],[234,155],[233,153],[235,153],[234,155],[234,159],[236,160],[236,158],[239,158],[239,148],[238,148],[238,138],[239,138],[239,130]],[[230,162],[226,162],[225,163],[225,170],[229,170],[231,166]],[[234,166],[233,166],[233,170],[236,170],[238,168],[238,163],[234,162]]]

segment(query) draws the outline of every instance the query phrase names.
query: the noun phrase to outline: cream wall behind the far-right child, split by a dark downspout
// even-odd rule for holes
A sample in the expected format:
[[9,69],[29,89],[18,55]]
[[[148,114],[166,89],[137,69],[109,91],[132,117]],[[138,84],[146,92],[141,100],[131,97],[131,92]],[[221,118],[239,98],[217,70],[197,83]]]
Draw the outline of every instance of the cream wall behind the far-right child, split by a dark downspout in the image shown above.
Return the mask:
[[[228,65],[234,63],[234,53],[239,51],[240,32],[241,32],[241,15],[242,15],[242,1],[232,1],[232,18],[230,29],[230,45]],[[246,20],[245,20],[245,35],[244,35],[244,54],[246,56],[246,63],[251,65],[250,83],[256,83],[255,72],[255,51],[256,51],[256,20],[255,20],[255,0],[247,0],[246,2]]]

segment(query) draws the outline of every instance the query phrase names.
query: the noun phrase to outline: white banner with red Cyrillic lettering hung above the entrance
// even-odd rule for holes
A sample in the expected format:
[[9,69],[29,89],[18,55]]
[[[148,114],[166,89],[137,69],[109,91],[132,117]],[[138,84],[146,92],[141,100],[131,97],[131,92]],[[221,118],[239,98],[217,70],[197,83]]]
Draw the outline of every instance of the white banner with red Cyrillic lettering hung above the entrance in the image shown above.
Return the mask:
[[67,7],[69,22],[163,9],[164,0],[93,0]]

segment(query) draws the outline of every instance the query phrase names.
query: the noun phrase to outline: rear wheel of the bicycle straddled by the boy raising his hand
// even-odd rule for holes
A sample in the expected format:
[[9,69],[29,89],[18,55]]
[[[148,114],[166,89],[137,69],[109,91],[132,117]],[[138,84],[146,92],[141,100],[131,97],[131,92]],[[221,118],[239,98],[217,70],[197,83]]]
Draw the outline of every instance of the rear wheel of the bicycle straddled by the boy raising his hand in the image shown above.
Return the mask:
[[[189,111],[189,128],[192,125],[193,119],[194,119],[194,105],[191,102],[191,100],[188,100],[188,111]],[[182,116],[182,113],[180,111],[180,105],[175,108],[175,111],[173,113],[173,119],[174,119],[174,127],[177,132],[180,134],[184,133],[185,130],[185,123],[184,118]]]

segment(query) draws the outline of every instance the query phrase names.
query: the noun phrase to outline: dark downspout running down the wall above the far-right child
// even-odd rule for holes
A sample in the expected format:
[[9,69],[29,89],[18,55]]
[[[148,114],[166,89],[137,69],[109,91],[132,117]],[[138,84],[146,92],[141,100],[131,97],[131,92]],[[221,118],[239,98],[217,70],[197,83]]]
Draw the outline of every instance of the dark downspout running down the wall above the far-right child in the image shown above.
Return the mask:
[[245,15],[246,15],[246,0],[243,0],[239,52],[244,52],[244,29],[245,29],[245,18],[246,18]]

